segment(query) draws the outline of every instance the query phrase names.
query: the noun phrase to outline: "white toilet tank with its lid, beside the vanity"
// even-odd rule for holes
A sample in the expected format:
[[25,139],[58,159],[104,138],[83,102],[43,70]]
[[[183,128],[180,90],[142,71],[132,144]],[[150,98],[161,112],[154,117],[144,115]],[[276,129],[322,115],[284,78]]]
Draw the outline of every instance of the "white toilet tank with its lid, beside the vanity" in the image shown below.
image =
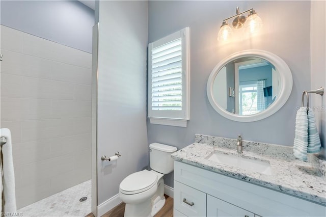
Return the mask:
[[174,162],[171,154],[177,151],[176,147],[160,143],[149,145],[149,164],[152,170],[162,174],[168,174],[173,171]]

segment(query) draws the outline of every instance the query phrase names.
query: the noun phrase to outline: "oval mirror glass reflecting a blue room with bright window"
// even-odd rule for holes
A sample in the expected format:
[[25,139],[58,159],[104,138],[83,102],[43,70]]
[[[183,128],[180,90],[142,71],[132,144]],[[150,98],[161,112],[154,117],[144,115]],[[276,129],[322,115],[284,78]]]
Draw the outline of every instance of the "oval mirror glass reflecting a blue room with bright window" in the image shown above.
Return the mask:
[[253,115],[266,110],[278,97],[280,73],[265,59],[240,57],[221,68],[212,88],[214,100],[225,111]]

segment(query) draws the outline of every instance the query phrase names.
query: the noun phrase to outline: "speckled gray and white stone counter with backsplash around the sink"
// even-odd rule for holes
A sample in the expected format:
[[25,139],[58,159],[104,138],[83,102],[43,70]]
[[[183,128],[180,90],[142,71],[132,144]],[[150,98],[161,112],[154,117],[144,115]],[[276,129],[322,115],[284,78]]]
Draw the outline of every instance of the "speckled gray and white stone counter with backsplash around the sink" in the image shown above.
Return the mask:
[[218,172],[283,193],[305,198],[326,206],[326,177],[324,160],[315,155],[309,162],[293,156],[292,147],[243,141],[240,157],[269,161],[271,175],[233,167],[207,158],[213,151],[236,154],[236,140],[208,135],[195,135],[195,143],[175,152],[175,160]]

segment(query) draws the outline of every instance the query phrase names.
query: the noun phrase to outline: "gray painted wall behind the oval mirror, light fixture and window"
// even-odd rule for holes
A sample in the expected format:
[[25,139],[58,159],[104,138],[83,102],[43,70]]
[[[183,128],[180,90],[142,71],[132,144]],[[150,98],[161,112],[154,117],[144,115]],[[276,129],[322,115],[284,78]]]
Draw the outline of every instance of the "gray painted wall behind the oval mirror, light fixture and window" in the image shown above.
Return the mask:
[[[239,34],[231,43],[219,43],[216,38],[222,21],[234,14],[236,6],[240,11],[254,8],[263,20],[263,29],[247,40],[242,40]],[[191,115],[186,128],[148,121],[148,142],[180,149],[194,142],[195,133],[227,138],[241,134],[244,140],[292,146],[296,106],[301,105],[302,91],[311,87],[309,8],[310,2],[302,1],[150,1],[149,43],[185,26],[190,28]],[[285,9],[286,13],[282,13]],[[291,22],[293,17],[295,22]],[[250,123],[222,117],[206,96],[207,78],[214,66],[244,49],[275,53],[288,64],[293,76],[292,92],[285,105],[273,116]],[[173,185],[172,175],[165,180]]]

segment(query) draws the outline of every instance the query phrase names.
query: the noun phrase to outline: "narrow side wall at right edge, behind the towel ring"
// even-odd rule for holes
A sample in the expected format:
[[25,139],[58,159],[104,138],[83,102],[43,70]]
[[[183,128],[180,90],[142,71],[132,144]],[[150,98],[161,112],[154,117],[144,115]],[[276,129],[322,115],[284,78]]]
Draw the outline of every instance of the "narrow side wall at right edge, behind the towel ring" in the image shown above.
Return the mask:
[[[320,28],[323,26],[323,28]],[[326,88],[326,2],[311,1],[311,89]],[[323,47],[323,48],[322,48]],[[326,146],[326,93],[311,94],[321,144]],[[326,156],[326,149],[324,149]]]

